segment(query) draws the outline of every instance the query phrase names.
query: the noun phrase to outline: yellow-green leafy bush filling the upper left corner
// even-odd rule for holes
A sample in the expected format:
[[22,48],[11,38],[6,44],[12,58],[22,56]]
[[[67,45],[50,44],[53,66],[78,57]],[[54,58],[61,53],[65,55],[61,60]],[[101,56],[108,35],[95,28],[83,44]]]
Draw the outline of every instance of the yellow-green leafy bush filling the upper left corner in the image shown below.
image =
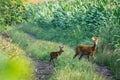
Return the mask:
[[27,19],[23,0],[0,0],[0,24],[12,25]]

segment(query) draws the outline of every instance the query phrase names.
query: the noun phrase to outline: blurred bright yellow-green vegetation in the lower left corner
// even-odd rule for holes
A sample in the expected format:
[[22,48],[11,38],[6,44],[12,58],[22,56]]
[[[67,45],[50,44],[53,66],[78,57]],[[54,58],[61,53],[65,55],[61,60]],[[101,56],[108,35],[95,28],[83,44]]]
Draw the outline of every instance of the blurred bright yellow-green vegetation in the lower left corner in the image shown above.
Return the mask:
[[23,50],[0,37],[0,80],[33,80],[33,69]]

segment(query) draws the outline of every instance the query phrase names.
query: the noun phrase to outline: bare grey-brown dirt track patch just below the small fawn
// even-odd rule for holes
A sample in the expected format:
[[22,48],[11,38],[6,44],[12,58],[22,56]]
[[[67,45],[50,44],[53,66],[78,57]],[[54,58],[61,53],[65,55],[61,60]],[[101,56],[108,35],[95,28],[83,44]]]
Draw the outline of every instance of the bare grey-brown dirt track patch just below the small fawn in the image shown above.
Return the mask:
[[35,65],[36,80],[48,80],[53,72],[53,65],[33,57],[31,59]]

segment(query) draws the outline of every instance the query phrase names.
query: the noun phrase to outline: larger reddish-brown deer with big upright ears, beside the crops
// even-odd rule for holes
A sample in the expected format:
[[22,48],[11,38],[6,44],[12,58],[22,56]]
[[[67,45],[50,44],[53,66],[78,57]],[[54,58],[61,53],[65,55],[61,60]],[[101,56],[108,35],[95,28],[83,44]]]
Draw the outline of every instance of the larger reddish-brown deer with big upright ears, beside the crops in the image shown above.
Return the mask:
[[99,41],[99,38],[95,39],[94,37],[91,38],[92,41],[94,42],[94,45],[79,45],[76,47],[76,54],[74,55],[73,59],[77,56],[80,55],[79,60],[82,58],[83,55],[87,55],[88,57],[88,61],[89,61],[89,57],[92,56],[94,58],[94,61],[96,59],[96,57],[94,56],[94,53],[96,51],[96,46],[97,43]]

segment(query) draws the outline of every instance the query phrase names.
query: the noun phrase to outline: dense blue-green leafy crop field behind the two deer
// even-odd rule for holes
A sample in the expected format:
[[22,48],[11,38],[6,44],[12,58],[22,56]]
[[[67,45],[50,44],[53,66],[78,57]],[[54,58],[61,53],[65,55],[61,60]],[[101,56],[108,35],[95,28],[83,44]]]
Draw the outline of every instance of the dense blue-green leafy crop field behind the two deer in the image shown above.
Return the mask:
[[27,10],[30,21],[40,27],[69,29],[81,39],[99,36],[106,45],[119,46],[120,5],[117,0],[46,2],[29,5]]

